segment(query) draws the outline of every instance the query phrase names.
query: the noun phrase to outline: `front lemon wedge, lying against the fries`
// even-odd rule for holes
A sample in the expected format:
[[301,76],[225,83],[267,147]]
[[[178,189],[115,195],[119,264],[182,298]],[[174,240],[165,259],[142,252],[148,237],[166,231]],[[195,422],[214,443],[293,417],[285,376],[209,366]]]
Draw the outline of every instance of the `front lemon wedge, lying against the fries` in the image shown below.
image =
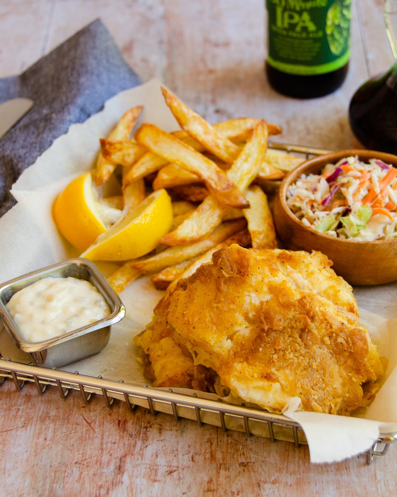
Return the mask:
[[171,198],[162,188],[147,196],[80,257],[89,260],[128,260],[140,257],[158,245],[171,225]]

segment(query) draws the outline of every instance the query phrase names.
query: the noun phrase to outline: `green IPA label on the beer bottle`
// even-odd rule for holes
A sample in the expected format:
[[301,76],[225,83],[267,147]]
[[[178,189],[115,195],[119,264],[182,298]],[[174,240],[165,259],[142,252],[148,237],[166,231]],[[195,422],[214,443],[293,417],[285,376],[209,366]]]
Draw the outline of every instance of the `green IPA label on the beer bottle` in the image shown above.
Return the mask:
[[267,63],[283,73],[335,71],[350,55],[351,0],[266,0]]

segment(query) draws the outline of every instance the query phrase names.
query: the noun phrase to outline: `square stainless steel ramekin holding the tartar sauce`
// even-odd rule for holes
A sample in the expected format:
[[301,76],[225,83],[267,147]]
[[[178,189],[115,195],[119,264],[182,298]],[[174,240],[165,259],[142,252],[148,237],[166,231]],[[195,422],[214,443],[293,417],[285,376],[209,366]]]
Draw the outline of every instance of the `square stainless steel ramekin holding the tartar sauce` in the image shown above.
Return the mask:
[[[110,309],[110,315],[89,325],[40,342],[22,336],[5,305],[14,293],[47,276],[83,279],[96,287]],[[0,319],[15,345],[30,354],[33,363],[45,368],[61,367],[96,354],[109,342],[111,325],[124,318],[126,308],[106,278],[91,261],[68,259],[0,284]],[[27,356],[28,357],[28,356]]]

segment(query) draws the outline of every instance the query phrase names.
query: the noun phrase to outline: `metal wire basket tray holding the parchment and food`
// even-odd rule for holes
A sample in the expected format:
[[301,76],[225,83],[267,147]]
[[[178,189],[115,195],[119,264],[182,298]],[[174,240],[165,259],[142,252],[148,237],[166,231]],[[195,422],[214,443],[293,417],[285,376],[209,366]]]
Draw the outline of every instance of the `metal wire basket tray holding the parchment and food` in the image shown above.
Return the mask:
[[[270,143],[270,148],[283,150],[287,153],[302,154],[309,159],[330,152],[329,150],[302,147],[297,145]],[[131,385],[123,380],[112,381],[102,378],[47,369],[34,366],[32,363],[22,364],[0,356],[0,385],[5,379],[13,380],[16,390],[20,391],[26,383],[34,383],[40,395],[47,386],[58,388],[63,400],[70,391],[79,391],[84,403],[88,403],[92,395],[102,395],[105,405],[111,408],[115,400],[124,401],[127,409],[132,412],[135,406],[149,409],[154,416],[157,412],[171,414],[178,421],[180,417],[193,419],[199,426],[203,423],[221,427],[224,431],[231,429],[243,431],[250,436],[260,435],[276,440],[293,442],[296,447],[307,443],[299,423],[284,417],[282,414],[272,414],[246,406],[237,406],[226,402],[200,398],[196,393],[174,392],[170,389],[152,388],[147,385]],[[384,456],[390,444],[397,441],[397,433],[383,434],[367,452],[367,463],[370,464],[375,456]]]

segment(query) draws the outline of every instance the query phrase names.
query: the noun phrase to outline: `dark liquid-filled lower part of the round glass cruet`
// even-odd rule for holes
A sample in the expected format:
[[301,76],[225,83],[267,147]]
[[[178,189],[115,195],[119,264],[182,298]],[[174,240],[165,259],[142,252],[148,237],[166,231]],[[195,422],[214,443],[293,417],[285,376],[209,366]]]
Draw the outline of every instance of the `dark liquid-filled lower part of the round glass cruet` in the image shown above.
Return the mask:
[[397,154],[397,63],[358,88],[350,102],[349,119],[365,147]]

